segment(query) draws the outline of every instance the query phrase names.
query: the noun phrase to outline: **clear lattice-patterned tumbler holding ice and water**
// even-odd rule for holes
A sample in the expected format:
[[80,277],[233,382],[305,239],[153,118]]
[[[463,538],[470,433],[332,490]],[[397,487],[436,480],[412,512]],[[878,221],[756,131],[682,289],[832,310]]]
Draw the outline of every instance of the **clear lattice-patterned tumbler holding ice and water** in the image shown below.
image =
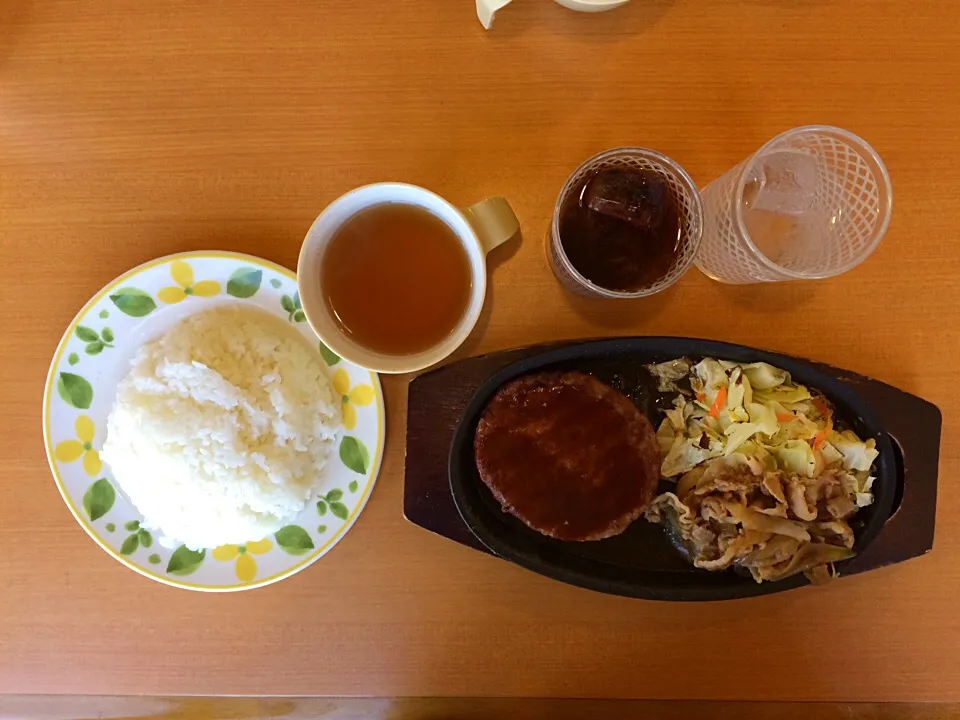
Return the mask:
[[863,262],[890,224],[883,161],[853,133],[788,130],[701,192],[697,267],[724,283],[826,278]]

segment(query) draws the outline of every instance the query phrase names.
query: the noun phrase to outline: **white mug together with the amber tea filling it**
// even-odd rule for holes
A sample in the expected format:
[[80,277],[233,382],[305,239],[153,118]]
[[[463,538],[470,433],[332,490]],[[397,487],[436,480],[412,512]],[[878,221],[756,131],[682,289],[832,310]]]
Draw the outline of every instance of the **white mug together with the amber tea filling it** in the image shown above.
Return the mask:
[[306,320],[326,349],[355,365],[423,370],[470,335],[486,297],[487,253],[519,229],[502,197],[461,209],[407,183],[351,190],[303,239],[297,289]]

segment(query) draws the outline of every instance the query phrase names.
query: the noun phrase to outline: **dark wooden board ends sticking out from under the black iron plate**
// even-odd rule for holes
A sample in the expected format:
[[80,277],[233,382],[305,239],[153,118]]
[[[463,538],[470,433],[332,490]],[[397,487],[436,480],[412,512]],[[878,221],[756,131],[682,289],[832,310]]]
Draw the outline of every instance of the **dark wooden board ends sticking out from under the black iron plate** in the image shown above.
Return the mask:
[[[454,542],[489,550],[460,517],[448,478],[450,441],[463,409],[493,373],[544,350],[536,345],[452,363],[414,379],[408,390],[404,516]],[[878,380],[804,361],[844,383],[881,417],[898,453],[901,494],[880,535],[846,567],[854,574],[918,557],[933,547],[940,445],[940,411],[927,401]]]

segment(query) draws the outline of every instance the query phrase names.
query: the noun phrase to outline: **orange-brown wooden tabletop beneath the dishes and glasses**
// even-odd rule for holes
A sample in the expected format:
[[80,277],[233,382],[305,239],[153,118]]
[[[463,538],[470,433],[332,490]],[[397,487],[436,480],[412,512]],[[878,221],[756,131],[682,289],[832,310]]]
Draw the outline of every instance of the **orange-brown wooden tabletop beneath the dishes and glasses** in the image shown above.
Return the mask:
[[[960,700],[960,50],[949,0],[6,0],[0,4],[0,691]],[[791,126],[867,138],[890,232],[848,275],[649,300],[566,295],[556,193],[601,149],[701,185]],[[401,516],[406,386],[334,552],[266,589],[149,582],[91,542],[44,458],[40,397],[74,312],[137,263],[231,249],[295,265],[340,193],[399,179],[513,203],[461,356],[678,334],[806,355],[945,411],[934,551],[823,589],[702,605],[567,587]]]

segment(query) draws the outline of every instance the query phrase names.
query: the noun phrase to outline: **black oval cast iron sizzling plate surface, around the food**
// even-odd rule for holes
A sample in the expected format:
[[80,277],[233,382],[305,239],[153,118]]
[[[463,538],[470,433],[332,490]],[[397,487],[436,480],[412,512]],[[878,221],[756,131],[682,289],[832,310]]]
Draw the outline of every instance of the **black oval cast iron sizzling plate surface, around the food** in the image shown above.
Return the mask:
[[[450,489],[463,521],[494,554],[548,577],[600,592],[653,600],[725,600],[764,595],[808,584],[802,574],[777,582],[756,583],[735,571],[694,568],[672,544],[666,528],[643,518],[613,538],[598,542],[563,542],[531,530],[503,512],[477,473],[473,438],[480,415],[504,383],[527,373],[579,370],[594,375],[629,397],[654,428],[676,393],[661,394],[643,367],[687,356],[735,362],[767,362],[787,370],[799,383],[821,391],[834,404],[843,427],[862,439],[876,440],[874,503],[851,523],[854,550],[863,551],[890,517],[902,470],[888,434],[869,405],[846,383],[811,363],[742,345],[687,338],[626,338],[575,343],[546,350],[495,372],[468,402],[450,445]],[[672,485],[672,484],[670,484]],[[660,491],[668,489],[661,484]],[[840,575],[856,558],[837,564]]]

